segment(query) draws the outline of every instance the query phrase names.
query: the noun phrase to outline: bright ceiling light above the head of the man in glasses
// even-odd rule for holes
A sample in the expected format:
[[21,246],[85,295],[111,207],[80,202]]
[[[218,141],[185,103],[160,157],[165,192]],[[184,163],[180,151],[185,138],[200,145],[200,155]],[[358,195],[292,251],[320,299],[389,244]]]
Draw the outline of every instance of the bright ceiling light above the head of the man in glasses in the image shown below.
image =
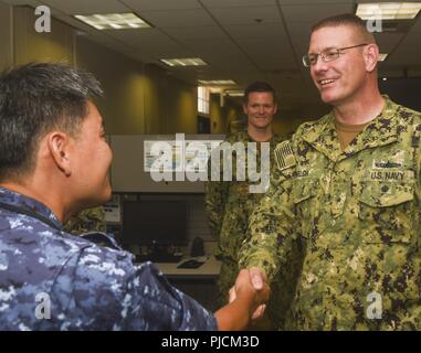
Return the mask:
[[359,3],[356,14],[362,20],[412,20],[421,2]]

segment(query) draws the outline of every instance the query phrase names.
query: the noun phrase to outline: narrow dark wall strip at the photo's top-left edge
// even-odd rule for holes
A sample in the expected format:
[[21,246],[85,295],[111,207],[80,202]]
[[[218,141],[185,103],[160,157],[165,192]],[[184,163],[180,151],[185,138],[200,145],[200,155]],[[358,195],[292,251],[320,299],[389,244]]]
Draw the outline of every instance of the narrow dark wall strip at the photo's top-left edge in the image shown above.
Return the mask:
[[13,63],[12,7],[0,2],[0,71]]

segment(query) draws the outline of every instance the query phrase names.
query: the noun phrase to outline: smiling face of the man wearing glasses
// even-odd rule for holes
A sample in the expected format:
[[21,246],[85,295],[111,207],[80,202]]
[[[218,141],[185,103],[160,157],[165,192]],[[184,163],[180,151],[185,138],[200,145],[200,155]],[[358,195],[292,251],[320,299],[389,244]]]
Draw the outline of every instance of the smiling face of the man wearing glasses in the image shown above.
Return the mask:
[[[351,25],[324,26],[313,32],[308,53],[361,43],[364,39]],[[339,106],[351,101],[362,90],[367,79],[364,50],[365,46],[345,50],[337,60],[327,63],[318,57],[317,63],[311,66],[313,82],[324,103]]]

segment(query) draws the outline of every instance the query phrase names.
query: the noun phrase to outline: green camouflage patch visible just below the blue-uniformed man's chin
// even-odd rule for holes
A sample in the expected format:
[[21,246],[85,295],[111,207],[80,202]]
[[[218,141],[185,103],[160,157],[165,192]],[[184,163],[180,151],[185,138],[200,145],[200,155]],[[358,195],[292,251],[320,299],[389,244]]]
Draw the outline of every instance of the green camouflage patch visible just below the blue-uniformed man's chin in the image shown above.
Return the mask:
[[98,206],[81,211],[69,220],[64,228],[74,235],[88,232],[106,232],[104,207]]

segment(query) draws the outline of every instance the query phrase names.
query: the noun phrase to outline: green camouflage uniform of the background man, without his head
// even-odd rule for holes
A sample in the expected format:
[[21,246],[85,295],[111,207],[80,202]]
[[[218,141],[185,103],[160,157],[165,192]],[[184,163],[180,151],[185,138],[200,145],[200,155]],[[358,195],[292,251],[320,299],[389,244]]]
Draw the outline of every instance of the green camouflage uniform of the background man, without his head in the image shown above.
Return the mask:
[[[254,142],[246,131],[235,132],[227,138],[228,142]],[[282,141],[281,137],[274,135],[270,141],[270,169],[274,165],[273,150]],[[233,175],[238,159],[232,158]],[[257,165],[261,154],[257,153]],[[222,171],[222,168],[221,168]],[[221,178],[222,179],[222,178]],[[248,224],[253,208],[262,199],[263,193],[250,193],[249,186],[253,184],[249,178],[245,181],[220,181],[209,182],[206,185],[206,206],[210,220],[211,231],[218,239],[215,256],[222,260],[220,276],[218,278],[219,304],[228,301],[228,292],[234,285],[239,272],[238,253],[245,238]],[[286,260],[288,268],[280,271],[272,282],[271,300],[267,304],[267,315],[252,329],[272,330],[283,328],[283,320],[291,307],[298,276],[299,263],[302,261],[299,249],[291,253]]]

